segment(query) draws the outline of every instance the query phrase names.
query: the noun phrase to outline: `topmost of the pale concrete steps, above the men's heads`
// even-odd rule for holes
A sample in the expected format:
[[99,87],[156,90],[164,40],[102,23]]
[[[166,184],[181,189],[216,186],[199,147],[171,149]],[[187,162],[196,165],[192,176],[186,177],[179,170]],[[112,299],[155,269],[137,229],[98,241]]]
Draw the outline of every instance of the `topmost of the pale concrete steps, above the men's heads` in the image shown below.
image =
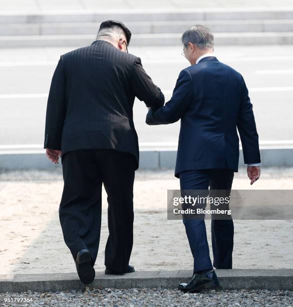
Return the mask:
[[0,24],[34,24],[34,23],[84,23],[101,22],[108,19],[125,22],[142,21],[199,21],[199,20],[279,20],[293,19],[293,10],[288,8],[258,9],[198,9],[198,10],[156,10],[154,11],[77,11],[77,12],[45,12],[43,14],[0,14]]

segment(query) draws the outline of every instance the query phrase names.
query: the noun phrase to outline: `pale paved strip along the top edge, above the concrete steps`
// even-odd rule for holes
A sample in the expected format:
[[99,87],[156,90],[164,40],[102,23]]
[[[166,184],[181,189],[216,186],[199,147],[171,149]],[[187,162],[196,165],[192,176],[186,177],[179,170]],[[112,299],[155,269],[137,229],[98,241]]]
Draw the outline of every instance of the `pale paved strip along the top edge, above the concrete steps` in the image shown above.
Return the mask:
[[292,7],[291,0],[0,0],[0,12],[93,11],[93,10],[189,10],[226,8],[278,8]]

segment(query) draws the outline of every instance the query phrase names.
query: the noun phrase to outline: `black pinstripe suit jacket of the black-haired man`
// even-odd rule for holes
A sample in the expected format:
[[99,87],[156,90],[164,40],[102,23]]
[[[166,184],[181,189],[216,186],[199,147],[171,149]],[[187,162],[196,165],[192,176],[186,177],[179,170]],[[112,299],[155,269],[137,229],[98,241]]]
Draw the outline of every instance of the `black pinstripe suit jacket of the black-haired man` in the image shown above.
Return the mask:
[[138,167],[135,96],[152,108],[164,104],[140,58],[106,41],[61,55],[48,97],[44,148],[62,150],[63,155],[113,148],[133,154]]

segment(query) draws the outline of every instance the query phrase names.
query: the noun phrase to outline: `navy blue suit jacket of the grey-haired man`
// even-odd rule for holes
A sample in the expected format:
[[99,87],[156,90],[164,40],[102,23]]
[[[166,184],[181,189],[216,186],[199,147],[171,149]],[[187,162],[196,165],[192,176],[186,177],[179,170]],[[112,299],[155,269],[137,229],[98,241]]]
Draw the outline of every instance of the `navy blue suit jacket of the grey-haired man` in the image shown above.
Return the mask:
[[239,138],[244,163],[260,163],[258,134],[243,77],[215,57],[183,69],[171,99],[150,110],[146,123],[181,118],[175,176],[186,170],[238,171]]

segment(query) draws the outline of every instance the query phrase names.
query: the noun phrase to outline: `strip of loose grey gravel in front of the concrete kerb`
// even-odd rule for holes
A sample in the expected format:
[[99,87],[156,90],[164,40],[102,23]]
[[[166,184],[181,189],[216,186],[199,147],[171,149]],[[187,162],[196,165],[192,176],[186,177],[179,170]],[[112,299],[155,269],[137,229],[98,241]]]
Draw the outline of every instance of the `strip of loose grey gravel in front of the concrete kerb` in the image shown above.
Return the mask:
[[5,303],[5,298],[33,299],[27,306],[293,306],[293,291],[267,290],[204,290],[183,293],[177,289],[86,289],[70,292],[24,292],[0,294],[0,306],[19,306]]

